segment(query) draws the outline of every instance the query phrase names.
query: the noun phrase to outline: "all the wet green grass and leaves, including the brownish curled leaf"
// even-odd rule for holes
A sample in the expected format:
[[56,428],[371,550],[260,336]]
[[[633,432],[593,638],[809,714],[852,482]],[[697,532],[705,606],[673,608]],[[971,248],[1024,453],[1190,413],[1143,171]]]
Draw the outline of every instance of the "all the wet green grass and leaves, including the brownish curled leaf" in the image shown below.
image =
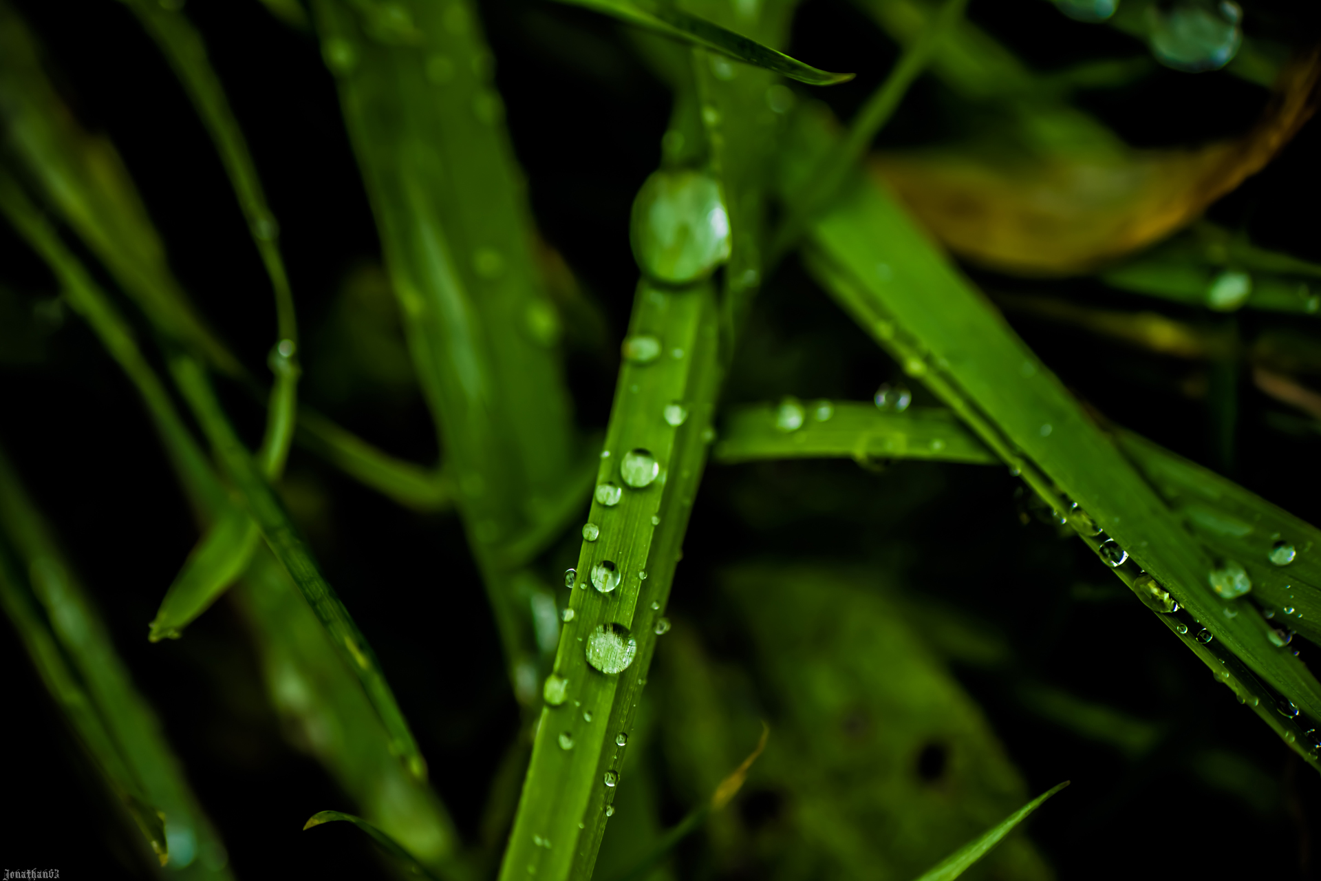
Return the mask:
[[[375,222],[367,247],[379,244],[383,268],[353,281],[345,267],[333,267],[350,280],[339,305],[328,309],[321,292],[299,281],[303,264],[281,243],[254,160],[262,151],[250,149],[240,131],[242,106],[231,107],[226,77],[211,66],[206,28],[196,26],[182,4],[125,5],[214,145],[272,295],[273,341],[268,318],[251,309],[255,297],[247,297],[240,318],[226,318],[227,333],[213,329],[215,314],[230,312],[214,297],[185,293],[185,264],[166,258],[166,242],[173,248],[182,234],[149,214],[149,199],[139,195],[140,185],[155,182],[151,170],[143,176],[108,139],[85,128],[33,32],[3,0],[0,210],[49,273],[29,273],[41,279],[37,285],[58,288],[55,302],[86,322],[129,380],[196,520],[193,551],[170,582],[148,590],[159,604],[149,639],[161,645],[152,650],[188,643],[225,597],[222,614],[236,622],[226,626],[244,634],[236,639],[251,647],[252,678],[264,687],[256,703],[267,709],[254,712],[273,708],[285,738],[316,758],[351,802],[341,807],[357,811],[317,806],[320,812],[300,819],[304,828],[346,820],[366,831],[396,870],[443,878],[671,877],[672,865],[694,876],[913,877],[933,864],[923,878],[952,878],[970,866],[1049,877],[1037,847],[1021,836],[974,866],[1065,783],[1028,800],[1022,775],[951,664],[1008,678],[1015,684],[1005,703],[1070,737],[1116,749],[1127,762],[1124,781],[1151,779],[1152,769],[1169,761],[1162,757],[1182,750],[1203,785],[1264,804],[1251,808],[1263,815],[1283,810],[1283,796],[1269,789],[1277,785],[1262,783],[1252,759],[1180,726],[1180,719],[1202,711],[1148,722],[1079,696],[1082,683],[1079,695],[1044,683],[1041,659],[999,638],[991,623],[905,586],[939,580],[952,565],[941,557],[962,553],[971,560],[959,569],[964,580],[987,585],[1005,609],[1029,605],[1016,590],[1021,579],[1001,572],[1013,565],[1004,551],[1009,540],[972,528],[989,516],[972,510],[984,502],[976,487],[988,485],[978,481],[988,481],[989,469],[950,470],[972,465],[1007,468],[1024,523],[1037,515],[1048,524],[1050,535],[1032,535],[1024,547],[1050,548],[1041,553],[1070,572],[1090,572],[1085,565],[1099,560],[1091,571],[1111,569],[1133,594],[1120,597],[1123,626],[1136,617],[1136,597],[1173,634],[1136,631],[1141,639],[1181,646],[1166,667],[1186,664],[1190,651],[1266,722],[1244,737],[1271,730],[1291,762],[1321,770],[1321,683],[1296,650],[1317,639],[1321,534],[1229,477],[1240,462],[1235,440],[1247,431],[1239,428],[1246,367],[1266,395],[1308,415],[1263,421],[1259,444],[1284,449],[1283,435],[1271,432],[1316,433],[1321,407],[1299,376],[1318,370],[1313,329],[1303,322],[1317,312],[1308,284],[1321,267],[1251,242],[1242,221],[1229,231],[1198,219],[1291,137],[1312,131],[1306,120],[1321,61],[1291,49],[1305,46],[1300,34],[1314,29],[1306,16],[1299,16],[1291,40],[1280,26],[1244,36],[1232,4],[1185,0],[1166,9],[1125,0],[1111,18],[1114,4],[1057,0],[1070,17],[1108,18],[1112,30],[1094,25],[1108,36],[1089,50],[1092,61],[1037,73],[983,26],[988,16],[995,24],[993,15],[974,8],[968,17],[964,0],[857,0],[848,13],[853,25],[875,22],[868,26],[886,34],[877,34],[877,45],[898,52],[884,75],[849,92],[860,108],[845,128],[835,110],[815,100],[824,92],[807,86],[841,86],[852,74],[775,49],[790,42],[790,0],[691,0],[682,9],[565,4],[627,25],[617,29],[581,11],[552,13],[539,4],[266,0],[288,28],[280,38],[314,50],[333,77]],[[1082,33],[1081,25],[1049,17],[1057,12],[1045,4],[1025,9],[1050,22],[1044,32]],[[236,13],[198,17],[210,15]],[[1210,24],[1193,40],[1176,26],[1177,16]],[[509,24],[514,20],[523,24]],[[1263,20],[1271,21],[1264,13]],[[672,96],[667,125],[651,132],[660,140],[659,168],[631,202],[629,242],[639,275],[631,264],[625,273],[635,287],[604,436],[584,427],[592,417],[575,416],[594,382],[579,376],[584,358],[592,376],[608,375],[614,346],[602,342],[608,333],[600,329],[618,324],[620,314],[610,297],[580,281],[593,277],[590,256],[579,254],[571,271],[539,236],[538,201],[518,159],[535,155],[540,143],[506,120],[486,28],[506,41],[518,32],[555,65],[602,81],[612,79],[610,65],[625,63],[625,46],[627,63],[645,66]],[[58,46],[58,34],[45,36]],[[1148,41],[1168,67],[1223,67],[1198,82],[1227,95],[1239,94],[1227,82],[1247,83],[1243,100],[1264,104],[1262,119],[1198,148],[1128,147],[1103,114],[1083,110],[1077,92],[1174,77],[1155,74],[1145,50],[1133,55],[1132,36]],[[812,52],[822,52],[822,63],[840,67],[828,53],[836,40],[847,45],[844,37],[836,30],[808,45],[820,46]],[[1128,57],[1110,57],[1116,46]],[[297,66],[284,63],[288,71]],[[597,63],[604,67],[593,69]],[[518,70],[515,91],[531,75],[531,67]],[[791,90],[783,78],[802,86]],[[1178,82],[1194,88],[1186,78]],[[938,98],[911,94],[919,83],[939,90]],[[1267,87],[1277,92],[1271,103]],[[905,118],[905,102],[923,110]],[[923,114],[945,119],[954,132],[948,143],[904,151],[885,140],[892,128],[911,131]],[[876,151],[878,133],[888,149]],[[269,178],[267,185],[279,192]],[[334,178],[318,186],[345,199],[357,193]],[[544,226],[547,235],[556,232],[553,223]],[[622,235],[614,244],[622,251]],[[966,263],[956,265],[951,252]],[[210,255],[213,265],[225,258]],[[316,263],[308,251],[301,259]],[[1042,275],[1052,280],[1037,280]],[[1037,293],[1003,291],[1008,285],[1034,285]],[[371,300],[373,291],[392,295],[394,306]],[[832,306],[811,300],[811,291],[826,292],[853,326],[823,317],[835,314]],[[25,314],[40,314],[28,308],[26,293],[0,295],[0,308],[24,304]],[[1065,295],[1091,300],[1070,304]],[[296,296],[317,304],[316,333],[300,333]],[[1155,300],[1132,300],[1137,296]],[[1166,312],[1153,316],[1157,304]],[[803,309],[797,321],[820,335],[786,342],[773,322],[795,308]],[[1063,374],[1069,359],[1038,354],[1024,339],[1028,330],[1011,326],[1001,309],[1054,322],[1034,346],[1073,325],[1205,361],[1210,460],[1223,474],[1148,440],[1144,435],[1162,442],[1182,437],[1159,420],[1135,425],[1141,433],[1111,421],[1127,411],[1111,413],[1112,402],[1092,396],[1092,405],[1067,387],[1052,369]],[[1280,330],[1269,324],[1272,314],[1299,324]],[[0,345],[20,363],[20,353],[41,350],[42,330],[26,317],[15,326]],[[1254,335],[1251,346],[1246,335]],[[390,374],[382,363],[394,363],[403,349],[407,366]],[[836,350],[863,353],[851,357],[867,366],[831,361],[843,357]],[[268,351],[269,379],[250,366],[254,351]],[[1125,358],[1122,349],[1104,350],[1111,355]],[[885,357],[890,361],[880,361]],[[814,361],[835,365],[834,375]],[[325,379],[317,386],[332,366],[339,376],[375,376],[366,396],[386,403],[361,412],[337,407],[342,388]],[[856,400],[855,374],[890,369],[875,402]],[[901,384],[900,372],[917,391]],[[1107,388],[1125,382],[1107,379]],[[300,400],[306,398],[318,408]],[[758,399],[771,403],[737,403]],[[374,435],[363,412],[399,420],[424,413],[427,429],[395,432],[387,445],[421,435],[421,449],[439,446],[437,462],[386,453],[341,424]],[[22,432],[5,428],[4,440],[22,444]],[[1297,442],[1304,452],[1280,456],[1293,456],[1292,466],[1301,469],[1314,439]],[[132,456],[156,458],[141,449]],[[708,456],[746,468],[741,482],[717,486],[729,516],[694,530],[699,540],[713,532],[712,547],[728,542],[740,549],[704,557],[716,561],[701,577],[720,598],[688,606],[680,614],[692,623],[666,635]],[[831,458],[861,468],[828,470],[818,461]],[[773,465],[785,460],[810,461]],[[905,470],[909,461],[946,470]],[[301,470],[287,473],[295,466]],[[777,497],[783,474],[806,476],[808,489]],[[911,515],[930,499],[948,498],[941,497],[938,474],[959,476],[963,494],[954,498],[963,507],[930,539],[911,538],[886,509]],[[28,495],[25,485],[42,477],[26,466],[20,474],[0,458],[5,612],[114,795],[114,810],[166,872],[227,874],[214,824]],[[453,544],[446,553],[424,540],[394,553],[365,551],[373,555],[371,575],[355,579],[341,542],[324,527],[325,487],[336,487],[336,498],[363,498],[354,495],[361,489],[336,483],[341,477],[407,509],[410,528],[461,536],[466,556],[456,556]],[[808,518],[803,511],[830,526],[807,538],[810,528],[799,528]],[[457,526],[437,519],[450,512]],[[125,514],[166,546],[166,511],[143,502],[125,506]],[[380,527],[375,540],[394,538],[394,528]],[[853,535],[849,530],[859,531],[856,547],[835,540]],[[886,530],[910,538],[872,542]],[[774,547],[749,538],[760,532],[774,535]],[[1071,544],[1055,542],[1063,538]],[[914,546],[925,547],[914,559],[905,542],[919,540],[930,544]],[[1081,546],[1096,560],[1075,561],[1059,549]],[[317,559],[322,553],[329,563]],[[383,575],[394,571],[391,557],[404,553],[413,555],[407,577]],[[976,564],[978,555],[985,565]],[[460,557],[470,557],[470,572]],[[565,564],[567,592],[557,584]],[[89,581],[100,577],[91,569]],[[1091,584],[1091,575],[1074,577],[1082,581],[1071,588],[1053,585],[1050,602],[1116,596]],[[376,585],[376,594],[357,593],[373,597],[363,602],[370,625],[350,614],[355,602],[342,601],[332,580],[354,592],[355,581]],[[477,581],[499,645],[499,686],[481,679],[483,631],[473,626],[477,613],[465,598]],[[441,598],[432,596],[437,592]],[[99,602],[115,602],[114,596]],[[424,675],[416,667],[390,663],[400,656],[390,637],[369,641],[367,633],[392,633],[391,619],[424,627],[427,638],[446,643],[453,652],[446,656],[462,658],[445,671],[439,693],[419,686]],[[1098,654],[1108,652],[1096,666],[1119,670],[1127,649],[1107,641],[1102,623],[1086,623],[1085,633]],[[647,688],[653,676],[658,683]],[[1124,676],[1136,682],[1129,668],[1111,679]],[[239,679],[221,676],[218,688],[232,689]],[[433,786],[437,766],[432,759],[428,767],[423,754],[437,728],[457,725],[421,708],[444,704],[460,683],[513,697],[499,722],[503,753],[481,775],[481,808],[441,802],[446,787],[457,789],[464,759],[446,754]],[[489,725],[494,711],[482,712],[473,717]],[[748,756],[758,721],[762,736]],[[469,746],[478,740],[465,737]],[[1054,765],[1034,773],[1052,774],[1050,783],[1063,777]],[[1067,773],[1081,778],[1087,769]],[[736,802],[745,785],[756,791]],[[1301,783],[1314,785],[1310,775]],[[1132,798],[1137,786],[1114,798]],[[1085,798],[1082,790],[1070,798]],[[629,793],[635,800],[622,802]],[[773,822],[757,831],[749,818],[758,799],[790,799],[794,807],[768,808]],[[741,804],[740,812],[724,810],[731,804]],[[1305,816],[1305,807],[1297,810]],[[699,829],[703,840],[695,844]],[[304,840],[329,848],[328,839],[318,831]]]

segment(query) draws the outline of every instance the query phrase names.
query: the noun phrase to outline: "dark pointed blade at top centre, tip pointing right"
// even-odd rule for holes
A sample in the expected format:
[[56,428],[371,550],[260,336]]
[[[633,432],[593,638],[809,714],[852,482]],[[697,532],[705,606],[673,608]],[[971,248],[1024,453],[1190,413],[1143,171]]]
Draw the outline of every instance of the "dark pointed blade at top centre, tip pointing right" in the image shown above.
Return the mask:
[[847,83],[853,74],[832,74],[790,58],[769,46],[749,40],[741,34],[712,24],[705,18],[688,15],[672,3],[649,3],[647,0],[560,0],[576,7],[600,12],[620,21],[654,30],[666,37],[674,37],[695,46],[717,52],[734,61],[773,70],[777,74],[807,83],[808,86],[835,86]]

